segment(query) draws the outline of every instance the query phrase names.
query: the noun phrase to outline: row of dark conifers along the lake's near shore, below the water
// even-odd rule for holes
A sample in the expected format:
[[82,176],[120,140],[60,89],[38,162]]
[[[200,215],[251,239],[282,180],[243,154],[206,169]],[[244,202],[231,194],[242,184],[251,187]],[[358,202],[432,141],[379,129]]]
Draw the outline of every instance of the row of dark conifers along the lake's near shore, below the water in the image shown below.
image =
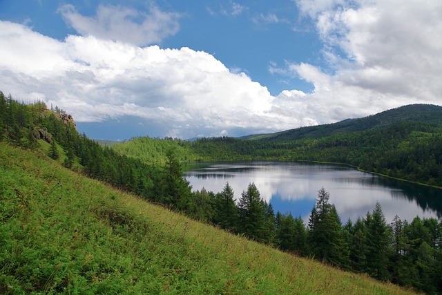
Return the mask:
[[413,287],[429,294],[442,292],[442,222],[435,218],[398,216],[388,224],[381,204],[356,222],[342,225],[329,193],[318,191],[305,225],[291,213],[273,213],[249,184],[238,202],[226,184],[220,193],[195,193],[203,220],[283,251],[311,257],[347,271]]

